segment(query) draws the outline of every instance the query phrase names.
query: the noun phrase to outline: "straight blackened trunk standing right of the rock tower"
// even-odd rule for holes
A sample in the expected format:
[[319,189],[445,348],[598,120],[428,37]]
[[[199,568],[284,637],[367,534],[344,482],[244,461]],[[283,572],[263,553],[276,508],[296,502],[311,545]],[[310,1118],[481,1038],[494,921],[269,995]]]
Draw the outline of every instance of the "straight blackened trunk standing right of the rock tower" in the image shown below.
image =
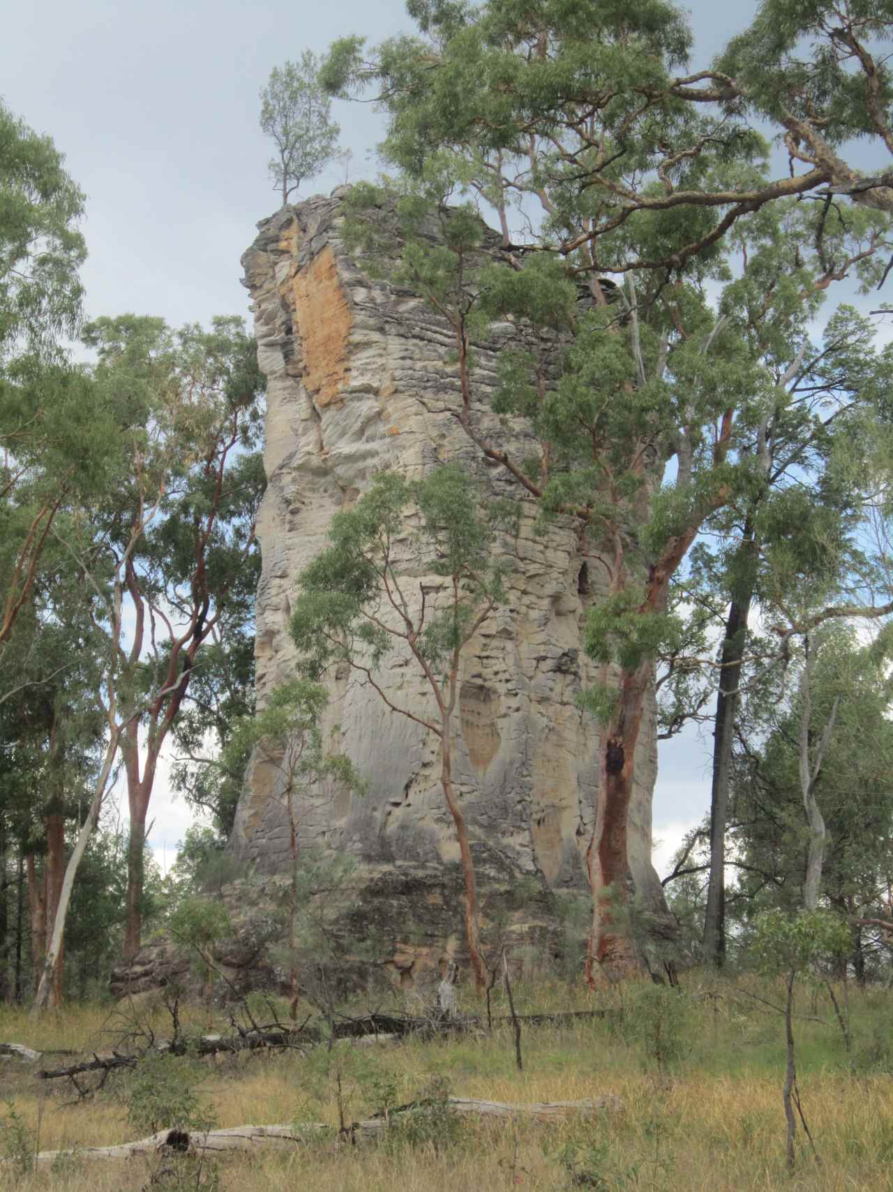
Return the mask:
[[710,793],[710,882],[704,917],[704,951],[707,963],[725,963],[725,831],[729,820],[735,716],[738,710],[744,638],[750,613],[750,596],[732,601],[725,622],[720,653],[719,690],[713,719],[713,777]]

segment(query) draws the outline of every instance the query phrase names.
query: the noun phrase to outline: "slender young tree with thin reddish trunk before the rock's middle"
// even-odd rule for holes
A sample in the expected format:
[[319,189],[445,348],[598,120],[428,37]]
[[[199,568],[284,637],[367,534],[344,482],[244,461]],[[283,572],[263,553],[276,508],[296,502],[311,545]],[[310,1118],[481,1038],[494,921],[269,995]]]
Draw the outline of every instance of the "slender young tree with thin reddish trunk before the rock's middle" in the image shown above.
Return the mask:
[[[439,739],[441,784],[460,848],[466,937],[479,988],[486,973],[477,884],[452,778],[452,732],[462,652],[502,600],[501,575],[491,559],[500,513],[498,504],[482,508],[457,466],[418,483],[382,473],[354,509],[333,519],[331,545],[304,571],[292,616],[292,637],[312,676],[346,664],[392,712]],[[427,701],[391,699],[382,670],[407,660],[416,664]]]

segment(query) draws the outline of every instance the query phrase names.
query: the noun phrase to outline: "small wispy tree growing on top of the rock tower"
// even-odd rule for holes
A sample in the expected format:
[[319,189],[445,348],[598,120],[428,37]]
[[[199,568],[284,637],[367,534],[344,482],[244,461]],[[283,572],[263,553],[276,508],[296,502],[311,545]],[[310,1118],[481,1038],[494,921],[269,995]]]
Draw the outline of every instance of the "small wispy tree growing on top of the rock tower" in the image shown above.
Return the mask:
[[282,206],[338,151],[341,129],[331,119],[331,99],[317,82],[318,69],[316,55],[305,50],[300,63],[274,67],[261,92],[261,128],[276,145],[269,170],[274,187],[282,192]]

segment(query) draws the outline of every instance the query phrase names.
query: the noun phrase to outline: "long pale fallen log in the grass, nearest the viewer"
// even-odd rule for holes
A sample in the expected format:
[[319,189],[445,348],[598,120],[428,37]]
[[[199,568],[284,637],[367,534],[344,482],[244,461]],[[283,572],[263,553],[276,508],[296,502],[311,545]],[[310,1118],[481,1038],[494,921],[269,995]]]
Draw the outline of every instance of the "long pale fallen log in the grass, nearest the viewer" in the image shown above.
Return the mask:
[[[450,1097],[445,1106],[454,1113],[469,1113],[485,1118],[513,1119],[524,1118],[530,1122],[558,1122],[574,1117],[593,1117],[597,1113],[623,1110],[623,1103],[611,1093],[582,1101],[543,1101],[532,1105],[510,1105],[502,1101],[482,1101],[467,1097]],[[256,1150],[258,1147],[276,1150],[305,1146],[320,1134],[330,1135],[335,1141],[341,1136],[352,1138],[375,1137],[387,1130],[394,1118],[404,1117],[420,1109],[431,1109],[430,1103],[420,1103],[394,1110],[388,1118],[374,1117],[364,1122],[355,1122],[343,1132],[336,1126],[319,1122],[300,1125],[237,1125],[226,1130],[210,1130],[207,1134],[186,1134],[182,1130],[161,1130],[148,1138],[136,1142],[124,1142],[114,1147],[82,1147],[76,1150],[42,1150],[36,1156],[40,1165],[54,1163],[60,1156],[76,1155],[77,1159],[132,1159],[138,1155],[154,1154],[192,1154],[217,1155],[229,1151]],[[7,1161],[8,1162],[8,1161]],[[0,1167],[2,1163],[0,1163]]]

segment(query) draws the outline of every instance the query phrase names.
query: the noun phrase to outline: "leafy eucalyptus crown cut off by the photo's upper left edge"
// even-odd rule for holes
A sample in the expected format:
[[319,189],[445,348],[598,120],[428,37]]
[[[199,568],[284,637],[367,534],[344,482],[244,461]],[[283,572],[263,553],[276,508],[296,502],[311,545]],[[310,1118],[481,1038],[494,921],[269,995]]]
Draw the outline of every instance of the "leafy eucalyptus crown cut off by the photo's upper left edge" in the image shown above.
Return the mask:
[[[62,346],[81,315],[83,194],[52,141],[1,103],[0,191],[1,664],[54,522],[95,486],[112,428]],[[0,699],[10,690],[0,682]]]

